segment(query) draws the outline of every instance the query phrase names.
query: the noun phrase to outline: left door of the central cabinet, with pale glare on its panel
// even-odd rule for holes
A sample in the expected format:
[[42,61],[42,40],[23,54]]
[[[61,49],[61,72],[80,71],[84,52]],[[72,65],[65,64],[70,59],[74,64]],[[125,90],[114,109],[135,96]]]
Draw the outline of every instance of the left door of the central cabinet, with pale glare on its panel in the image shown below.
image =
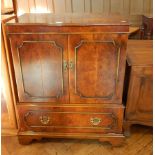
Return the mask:
[[68,102],[67,35],[10,34],[19,102]]

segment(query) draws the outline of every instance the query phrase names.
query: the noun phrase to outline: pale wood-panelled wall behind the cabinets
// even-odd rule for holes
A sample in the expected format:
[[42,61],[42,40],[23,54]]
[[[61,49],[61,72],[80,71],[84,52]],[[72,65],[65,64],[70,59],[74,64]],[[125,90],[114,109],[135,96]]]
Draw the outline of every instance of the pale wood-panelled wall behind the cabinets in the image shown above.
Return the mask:
[[152,12],[152,0],[17,0],[23,12],[87,12],[141,15]]

